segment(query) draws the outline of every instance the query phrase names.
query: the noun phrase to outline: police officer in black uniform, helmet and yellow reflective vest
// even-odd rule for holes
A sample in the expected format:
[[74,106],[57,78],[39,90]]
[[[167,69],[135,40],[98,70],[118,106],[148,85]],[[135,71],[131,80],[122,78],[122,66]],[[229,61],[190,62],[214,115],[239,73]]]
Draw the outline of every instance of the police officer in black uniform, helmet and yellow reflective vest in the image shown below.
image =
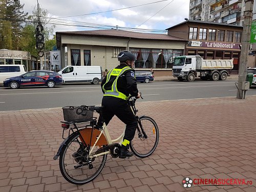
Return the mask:
[[118,60],[120,65],[111,70],[101,82],[101,89],[104,93],[101,105],[104,106],[102,117],[106,124],[114,115],[126,124],[119,155],[119,158],[126,158],[133,156],[133,153],[128,149],[138,126],[137,119],[127,100],[130,95],[140,98],[140,93],[137,89],[135,70],[133,69],[136,60],[135,55],[130,51],[121,51],[118,54]]

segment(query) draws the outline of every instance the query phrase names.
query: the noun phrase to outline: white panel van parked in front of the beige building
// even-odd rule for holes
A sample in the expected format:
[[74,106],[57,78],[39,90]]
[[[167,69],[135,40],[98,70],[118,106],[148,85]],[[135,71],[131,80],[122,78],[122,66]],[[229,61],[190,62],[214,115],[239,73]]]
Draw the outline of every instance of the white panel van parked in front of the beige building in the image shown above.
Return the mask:
[[102,80],[102,68],[100,66],[67,66],[58,74],[63,82],[91,82],[98,84]]

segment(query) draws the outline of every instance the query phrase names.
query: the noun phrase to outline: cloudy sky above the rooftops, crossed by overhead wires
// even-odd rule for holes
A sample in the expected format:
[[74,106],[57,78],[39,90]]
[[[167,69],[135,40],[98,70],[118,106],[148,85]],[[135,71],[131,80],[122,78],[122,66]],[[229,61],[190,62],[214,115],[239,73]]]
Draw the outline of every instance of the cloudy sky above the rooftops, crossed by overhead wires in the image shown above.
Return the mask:
[[[165,30],[184,22],[184,18],[188,18],[189,0],[159,1],[161,0],[38,0],[38,3],[52,17],[50,23],[56,24],[54,31],[95,30],[109,28],[109,26]],[[153,2],[159,3],[139,6]],[[20,0],[20,4],[25,4],[24,12],[32,14],[33,8],[37,6],[37,1]],[[139,7],[122,9],[132,6]],[[115,9],[122,10],[110,11]],[[110,12],[92,14],[103,11]],[[78,25],[89,27],[79,27]],[[90,28],[92,26],[96,28]]]

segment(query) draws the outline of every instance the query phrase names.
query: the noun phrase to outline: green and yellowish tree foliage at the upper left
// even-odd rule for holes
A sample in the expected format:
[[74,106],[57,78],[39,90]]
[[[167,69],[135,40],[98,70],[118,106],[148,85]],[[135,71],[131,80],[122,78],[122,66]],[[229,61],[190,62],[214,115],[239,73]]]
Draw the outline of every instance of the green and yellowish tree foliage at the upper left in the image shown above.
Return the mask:
[[19,0],[0,0],[0,49],[28,51],[37,56],[35,28],[38,18],[44,26],[45,51],[56,47],[55,36],[51,39],[55,26],[46,27],[50,22],[49,13],[45,9],[34,7],[32,15],[24,13],[24,4]]

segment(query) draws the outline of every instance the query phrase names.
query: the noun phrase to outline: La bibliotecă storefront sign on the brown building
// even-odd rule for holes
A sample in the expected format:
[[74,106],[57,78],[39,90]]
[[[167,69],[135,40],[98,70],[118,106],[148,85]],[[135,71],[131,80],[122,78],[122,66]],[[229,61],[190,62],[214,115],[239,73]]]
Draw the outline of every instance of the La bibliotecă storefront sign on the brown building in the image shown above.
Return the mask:
[[212,41],[188,41],[188,47],[204,47],[217,49],[240,49],[241,44],[229,42],[212,42]]

